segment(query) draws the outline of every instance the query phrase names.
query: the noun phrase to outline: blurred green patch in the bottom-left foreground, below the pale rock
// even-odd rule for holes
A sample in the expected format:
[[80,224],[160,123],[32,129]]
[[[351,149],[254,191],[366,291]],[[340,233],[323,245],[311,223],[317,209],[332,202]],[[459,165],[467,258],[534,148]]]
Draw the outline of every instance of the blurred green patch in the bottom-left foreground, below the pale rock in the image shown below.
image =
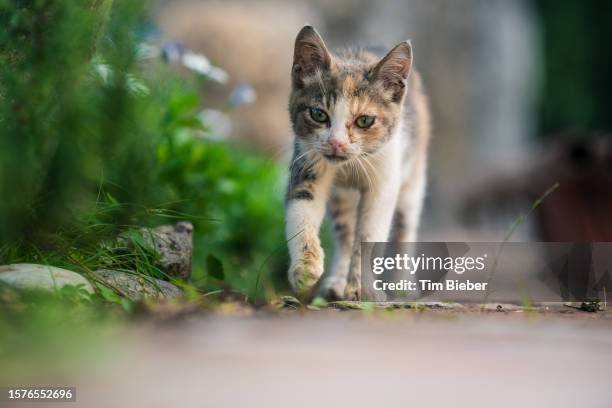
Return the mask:
[[66,286],[57,293],[0,285],[0,382],[67,375],[121,338],[120,305]]

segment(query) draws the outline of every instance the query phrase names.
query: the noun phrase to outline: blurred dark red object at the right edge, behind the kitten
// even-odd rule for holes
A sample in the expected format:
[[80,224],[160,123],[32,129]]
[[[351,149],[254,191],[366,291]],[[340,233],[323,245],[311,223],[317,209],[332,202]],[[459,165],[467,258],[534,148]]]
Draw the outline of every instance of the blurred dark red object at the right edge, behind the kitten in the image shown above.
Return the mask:
[[498,175],[468,196],[466,214],[517,200],[534,202],[541,241],[612,241],[612,137],[583,136],[543,146],[527,169]]

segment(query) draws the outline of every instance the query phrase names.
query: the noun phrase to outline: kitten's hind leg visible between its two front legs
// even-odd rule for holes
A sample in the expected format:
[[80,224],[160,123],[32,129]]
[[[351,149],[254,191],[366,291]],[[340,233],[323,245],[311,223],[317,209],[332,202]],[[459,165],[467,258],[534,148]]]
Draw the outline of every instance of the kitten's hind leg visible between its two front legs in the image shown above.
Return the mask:
[[326,300],[341,300],[344,297],[346,280],[351,267],[351,254],[357,223],[357,190],[334,188],[328,203],[334,230],[334,257],[329,272],[323,277],[318,295]]

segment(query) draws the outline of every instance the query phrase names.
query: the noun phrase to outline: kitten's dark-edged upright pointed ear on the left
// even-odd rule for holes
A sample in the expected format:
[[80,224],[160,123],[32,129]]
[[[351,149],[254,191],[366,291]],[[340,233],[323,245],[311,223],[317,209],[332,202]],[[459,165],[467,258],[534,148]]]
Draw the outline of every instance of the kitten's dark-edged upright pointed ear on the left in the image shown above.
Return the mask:
[[304,26],[295,39],[293,68],[291,76],[296,86],[302,86],[302,79],[314,74],[317,70],[326,70],[331,66],[331,55],[323,39],[312,26]]

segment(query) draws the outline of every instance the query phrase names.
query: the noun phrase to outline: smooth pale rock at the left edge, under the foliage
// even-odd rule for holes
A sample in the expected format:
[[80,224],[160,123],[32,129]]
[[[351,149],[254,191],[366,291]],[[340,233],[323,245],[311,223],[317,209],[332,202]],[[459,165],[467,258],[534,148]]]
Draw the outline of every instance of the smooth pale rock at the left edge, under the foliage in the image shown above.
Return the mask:
[[12,264],[0,266],[0,282],[21,290],[55,291],[66,285],[83,285],[89,293],[93,286],[82,275],[54,266]]

